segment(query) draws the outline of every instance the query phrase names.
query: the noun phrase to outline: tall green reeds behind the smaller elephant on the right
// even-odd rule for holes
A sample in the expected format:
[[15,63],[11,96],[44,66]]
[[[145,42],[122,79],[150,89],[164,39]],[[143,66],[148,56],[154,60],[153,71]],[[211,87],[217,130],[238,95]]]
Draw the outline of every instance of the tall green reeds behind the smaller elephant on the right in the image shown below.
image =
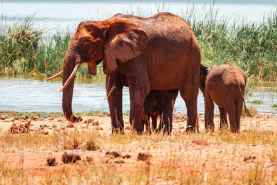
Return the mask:
[[277,11],[271,10],[260,23],[218,17],[213,6],[183,13],[192,26],[208,67],[233,62],[249,77],[277,80]]

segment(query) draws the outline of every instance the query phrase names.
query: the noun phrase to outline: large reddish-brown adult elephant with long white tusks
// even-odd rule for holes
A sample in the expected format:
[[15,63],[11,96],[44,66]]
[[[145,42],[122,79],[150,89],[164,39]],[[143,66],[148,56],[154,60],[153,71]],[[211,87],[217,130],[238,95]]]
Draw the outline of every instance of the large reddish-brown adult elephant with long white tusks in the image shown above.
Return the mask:
[[169,12],[148,18],[116,14],[104,21],[78,25],[64,57],[62,109],[71,122],[81,121],[72,113],[74,76],[87,62],[96,73],[96,61],[103,60],[106,91],[113,132],[123,132],[122,89],[129,87],[130,116],[141,133],[143,103],[153,90],[179,89],[188,109],[187,131],[195,131],[199,88],[199,44],[190,26]]

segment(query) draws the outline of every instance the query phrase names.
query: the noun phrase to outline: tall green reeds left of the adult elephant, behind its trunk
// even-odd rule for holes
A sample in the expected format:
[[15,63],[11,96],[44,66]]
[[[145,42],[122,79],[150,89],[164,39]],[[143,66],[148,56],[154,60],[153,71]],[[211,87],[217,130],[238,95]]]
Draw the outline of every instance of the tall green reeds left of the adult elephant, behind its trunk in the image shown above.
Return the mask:
[[[35,28],[33,17],[0,30],[0,74],[5,76],[52,76],[62,70],[66,49],[73,35],[71,30],[57,30],[47,35]],[[102,76],[102,64],[98,76]],[[87,67],[81,66],[78,76],[91,78]]]

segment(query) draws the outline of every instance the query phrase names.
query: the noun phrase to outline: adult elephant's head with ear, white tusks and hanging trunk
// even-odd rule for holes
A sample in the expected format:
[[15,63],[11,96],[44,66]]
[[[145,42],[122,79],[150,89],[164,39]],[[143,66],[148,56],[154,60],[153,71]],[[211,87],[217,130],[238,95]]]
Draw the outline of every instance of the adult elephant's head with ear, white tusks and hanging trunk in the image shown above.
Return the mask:
[[68,121],[78,122],[72,113],[72,96],[75,74],[80,64],[87,62],[88,73],[96,74],[96,64],[104,61],[103,71],[109,74],[119,63],[124,64],[140,55],[148,42],[148,35],[134,21],[107,19],[84,21],[78,25],[64,57],[63,70],[48,78],[63,75],[62,109]]

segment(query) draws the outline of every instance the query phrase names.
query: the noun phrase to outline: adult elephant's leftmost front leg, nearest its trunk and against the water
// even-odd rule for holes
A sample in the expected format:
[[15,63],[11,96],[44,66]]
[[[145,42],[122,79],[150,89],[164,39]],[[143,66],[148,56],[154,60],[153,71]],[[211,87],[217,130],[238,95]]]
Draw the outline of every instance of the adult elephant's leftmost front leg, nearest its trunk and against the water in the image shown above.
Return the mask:
[[111,114],[112,133],[124,134],[122,116],[122,89],[123,85],[116,76],[106,76],[106,94]]

